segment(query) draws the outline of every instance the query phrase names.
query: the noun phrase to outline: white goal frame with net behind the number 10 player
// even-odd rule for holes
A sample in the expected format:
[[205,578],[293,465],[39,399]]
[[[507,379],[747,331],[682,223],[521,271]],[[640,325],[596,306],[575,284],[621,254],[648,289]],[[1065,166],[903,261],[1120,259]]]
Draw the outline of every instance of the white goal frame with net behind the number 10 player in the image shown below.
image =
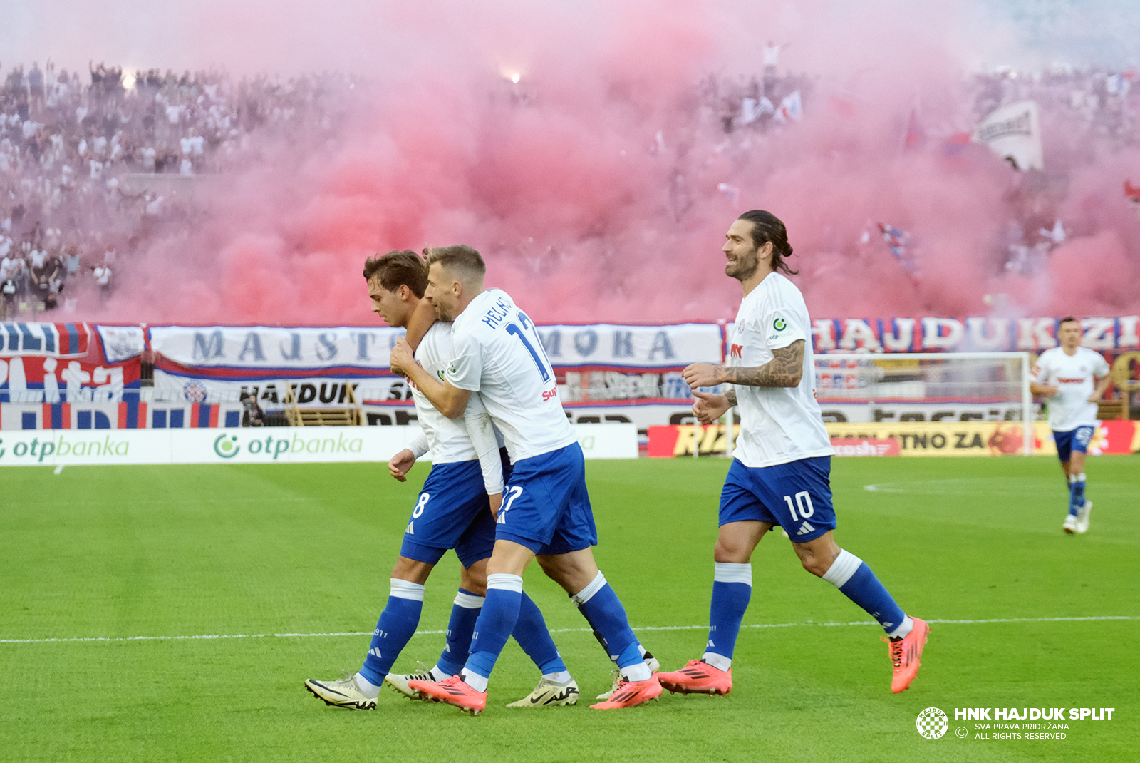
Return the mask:
[[1033,453],[1028,352],[826,352],[815,395],[830,421],[1020,421]]

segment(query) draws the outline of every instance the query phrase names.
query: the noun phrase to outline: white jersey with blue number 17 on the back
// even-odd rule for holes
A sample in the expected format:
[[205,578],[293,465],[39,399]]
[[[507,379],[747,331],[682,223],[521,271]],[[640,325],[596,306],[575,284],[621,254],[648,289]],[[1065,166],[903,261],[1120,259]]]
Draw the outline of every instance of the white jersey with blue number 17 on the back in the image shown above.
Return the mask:
[[543,341],[510,294],[488,289],[471,300],[453,326],[451,364],[445,379],[482,396],[511,463],[578,441],[562,411]]

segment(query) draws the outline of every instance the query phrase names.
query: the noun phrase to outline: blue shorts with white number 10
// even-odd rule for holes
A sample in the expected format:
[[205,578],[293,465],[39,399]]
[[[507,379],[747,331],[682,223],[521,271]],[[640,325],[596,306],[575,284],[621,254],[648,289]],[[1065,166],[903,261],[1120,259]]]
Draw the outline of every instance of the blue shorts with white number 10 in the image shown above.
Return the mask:
[[836,529],[831,456],[751,469],[733,458],[720,490],[722,525],[748,520],[779,525],[795,543]]

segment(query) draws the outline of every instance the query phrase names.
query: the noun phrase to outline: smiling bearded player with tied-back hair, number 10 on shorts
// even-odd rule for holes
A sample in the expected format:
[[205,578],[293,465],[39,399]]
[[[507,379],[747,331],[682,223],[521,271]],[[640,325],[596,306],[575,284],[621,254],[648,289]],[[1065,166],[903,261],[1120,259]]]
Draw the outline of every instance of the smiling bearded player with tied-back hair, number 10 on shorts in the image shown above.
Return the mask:
[[[930,628],[909,617],[866,562],[836,545],[831,505],[831,440],[815,401],[812,322],[793,275],[788,232],[771,212],[741,214],[728,228],[725,274],[740,281],[744,299],[736,312],[728,365],[694,363],[682,375],[697,398],[693,415],[712,423],[732,406],[740,437],[720,493],[719,534],[712,552],[712,607],[701,659],[658,673],[673,692],[726,695],[732,690],[732,652],[752,593],[752,551],[779,525],[804,569],[831,583],[865,609],[887,632],[894,676],[890,690],[906,689],[919,669]],[[701,387],[730,383],[723,395]]]

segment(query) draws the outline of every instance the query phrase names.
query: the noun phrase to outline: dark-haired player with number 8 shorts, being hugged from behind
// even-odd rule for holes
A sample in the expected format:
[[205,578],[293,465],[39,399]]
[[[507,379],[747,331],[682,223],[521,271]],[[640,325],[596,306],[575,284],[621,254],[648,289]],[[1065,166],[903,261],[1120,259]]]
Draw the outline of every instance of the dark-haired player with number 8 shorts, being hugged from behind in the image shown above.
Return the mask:
[[[426,266],[413,251],[392,251],[365,262],[372,309],[390,326],[407,326],[413,319],[427,282]],[[420,332],[414,332],[418,334]],[[435,323],[418,341],[416,360],[432,374],[442,374],[451,356],[451,326]],[[415,341],[415,336],[413,336]],[[429,449],[432,469],[416,502],[400,557],[392,570],[391,595],[376,623],[364,666],[340,681],[304,682],[306,689],[327,705],[355,709],[376,706],[380,687],[386,682],[413,699],[426,699],[408,683],[415,679],[435,680],[458,673],[467,657],[472,630],[483,606],[487,586],[487,559],[495,543],[495,519],[503,495],[503,466],[490,419],[479,396],[472,396],[463,419],[451,420],[431,407],[423,393],[413,388],[416,415],[423,435],[409,448],[389,462],[389,471],[405,481],[416,457]],[[413,674],[390,674],[392,664],[420,623],[424,584],[435,563],[455,549],[463,566],[459,592],[455,596],[447,626],[447,643],[434,667]],[[578,701],[575,683],[546,628],[543,615],[523,594],[521,615],[513,635],[543,672],[538,687],[515,707],[573,705]]]

